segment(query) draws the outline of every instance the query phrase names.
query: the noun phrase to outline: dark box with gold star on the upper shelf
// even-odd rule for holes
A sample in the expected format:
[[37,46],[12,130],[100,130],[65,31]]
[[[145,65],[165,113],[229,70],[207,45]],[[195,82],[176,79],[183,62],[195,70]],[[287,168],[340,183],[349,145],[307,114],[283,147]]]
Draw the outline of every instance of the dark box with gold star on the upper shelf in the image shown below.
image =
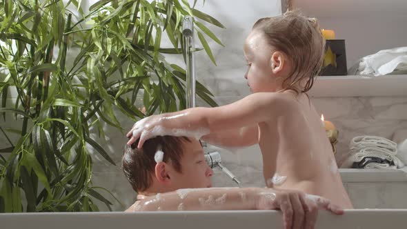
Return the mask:
[[326,40],[322,76],[337,76],[348,74],[346,67],[345,40]]

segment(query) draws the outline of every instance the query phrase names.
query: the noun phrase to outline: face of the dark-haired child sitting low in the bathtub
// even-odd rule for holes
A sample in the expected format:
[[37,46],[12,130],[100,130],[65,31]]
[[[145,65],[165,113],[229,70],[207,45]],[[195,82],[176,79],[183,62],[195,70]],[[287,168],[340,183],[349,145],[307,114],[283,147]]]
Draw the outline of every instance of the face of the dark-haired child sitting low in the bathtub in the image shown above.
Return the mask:
[[212,186],[212,169],[203,156],[201,143],[196,139],[183,141],[183,156],[179,161],[182,172],[172,173],[174,188],[209,188]]

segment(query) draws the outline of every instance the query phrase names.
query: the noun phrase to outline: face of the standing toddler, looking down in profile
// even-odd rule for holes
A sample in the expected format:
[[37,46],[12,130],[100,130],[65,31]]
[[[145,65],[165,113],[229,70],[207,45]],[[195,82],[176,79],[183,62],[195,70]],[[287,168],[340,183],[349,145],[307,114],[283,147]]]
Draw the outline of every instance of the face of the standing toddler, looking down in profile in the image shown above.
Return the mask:
[[272,74],[272,50],[260,30],[252,30],[244,43],[244,56],[248,62],[245,78],[252,92],[276,91],[275,77]]

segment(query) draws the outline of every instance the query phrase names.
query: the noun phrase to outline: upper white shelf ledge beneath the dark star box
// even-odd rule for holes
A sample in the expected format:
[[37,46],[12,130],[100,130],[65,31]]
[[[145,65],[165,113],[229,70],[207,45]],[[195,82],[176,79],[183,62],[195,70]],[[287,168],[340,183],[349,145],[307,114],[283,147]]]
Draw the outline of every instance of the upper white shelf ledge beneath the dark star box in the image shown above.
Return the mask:
[[317,77],[312,97],[407,97],[407,74]]

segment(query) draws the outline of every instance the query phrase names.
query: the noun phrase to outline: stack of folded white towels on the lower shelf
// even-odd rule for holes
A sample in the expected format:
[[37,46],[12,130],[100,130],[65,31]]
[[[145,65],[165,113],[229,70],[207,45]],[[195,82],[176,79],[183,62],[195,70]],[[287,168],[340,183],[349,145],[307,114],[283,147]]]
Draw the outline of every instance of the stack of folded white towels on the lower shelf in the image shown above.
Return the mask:
[[350,157],[342,168],[402,168],[396,157],[397,143],[377,136],[358,136],[350,141]]

